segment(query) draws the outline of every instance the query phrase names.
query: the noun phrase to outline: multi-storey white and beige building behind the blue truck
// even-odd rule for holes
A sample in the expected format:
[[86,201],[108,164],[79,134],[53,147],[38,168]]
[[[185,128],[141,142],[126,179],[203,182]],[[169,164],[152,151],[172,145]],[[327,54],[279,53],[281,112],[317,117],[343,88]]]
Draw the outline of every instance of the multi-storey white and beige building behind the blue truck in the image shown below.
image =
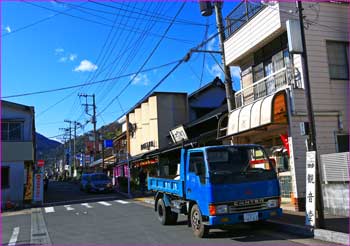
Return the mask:
[[[349,150],[348,3],[303,2],[317,154]],[[244,13],[244,14],[242,14]],[[240,20],[240,21],[237,21]],[[242,2],[226,18],[225,59],[241,69],[237,108],[221,136],[231,143],[259,143],[275,157],[282,196],[296,210],[305,205],[307,122],[304,70],[290,52],[286,21],[299,22],[294,2]],[[224,121],[223,121],[224,122]]]

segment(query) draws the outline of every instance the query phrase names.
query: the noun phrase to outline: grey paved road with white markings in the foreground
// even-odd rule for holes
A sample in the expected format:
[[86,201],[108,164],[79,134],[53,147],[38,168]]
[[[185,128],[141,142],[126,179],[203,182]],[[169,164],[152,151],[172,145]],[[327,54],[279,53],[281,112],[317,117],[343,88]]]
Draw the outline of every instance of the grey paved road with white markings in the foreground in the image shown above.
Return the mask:
[[[57,184],[59,185],[59,184]],[[61,184],[66,186],[66,184]],[[85,198],[91,198],[86,194]],[[92,195],[97,196],[98,195]],[[104,195],[98,197],[103,198]],[[115,195],[117,197],[117,195]],[[84,198],[84,197],[83,197]],[[86,199],[63,205],[5,213],[2,217],[2,243],[16,244],[321,244],[320,241],[283,234],[269,224],[237,225],[230,231],[213,230],[199,239],[187,227],[184,217],[178,224],[162,226],[153,207],[136,200]],[[14,245],[14,244],[12,244]]]

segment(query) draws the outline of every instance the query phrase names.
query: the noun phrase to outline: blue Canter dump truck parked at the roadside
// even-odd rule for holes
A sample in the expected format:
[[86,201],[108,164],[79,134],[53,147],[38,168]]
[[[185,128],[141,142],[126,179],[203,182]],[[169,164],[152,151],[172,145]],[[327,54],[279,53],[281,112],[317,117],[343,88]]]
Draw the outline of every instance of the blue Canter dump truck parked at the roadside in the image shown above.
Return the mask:
[[282,215],[277,175],[260,145],[182,148],[180,160],[179,177],[148,178],[163,225],[175,224],[184,214],[202,238],[210,228]]

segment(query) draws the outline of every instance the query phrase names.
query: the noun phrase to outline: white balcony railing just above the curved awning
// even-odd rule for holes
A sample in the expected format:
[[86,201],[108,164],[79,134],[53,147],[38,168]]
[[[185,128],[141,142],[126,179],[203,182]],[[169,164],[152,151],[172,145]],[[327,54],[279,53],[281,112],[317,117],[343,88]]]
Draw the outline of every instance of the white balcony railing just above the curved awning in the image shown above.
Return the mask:
[[284,67],[235,93],[236,107],[242,107],[262,97],[286,88],[292,81],[291,69]]

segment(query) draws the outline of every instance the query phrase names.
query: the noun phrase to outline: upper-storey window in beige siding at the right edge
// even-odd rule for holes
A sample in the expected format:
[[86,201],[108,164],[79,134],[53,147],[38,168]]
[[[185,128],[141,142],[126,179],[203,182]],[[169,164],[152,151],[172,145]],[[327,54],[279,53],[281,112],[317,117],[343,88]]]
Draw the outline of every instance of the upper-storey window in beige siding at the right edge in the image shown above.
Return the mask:
[[349,79],[349,49],[345,42],[327,41],[328,68],[330,79]]

